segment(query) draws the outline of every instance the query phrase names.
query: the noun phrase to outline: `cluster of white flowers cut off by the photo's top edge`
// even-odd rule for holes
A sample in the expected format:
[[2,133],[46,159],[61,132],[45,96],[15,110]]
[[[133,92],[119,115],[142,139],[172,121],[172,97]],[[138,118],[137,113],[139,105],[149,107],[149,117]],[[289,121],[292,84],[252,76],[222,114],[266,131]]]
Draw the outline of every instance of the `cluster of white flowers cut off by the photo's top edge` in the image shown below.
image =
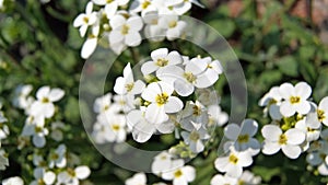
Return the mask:
[[109,47],[120,54],[126,47],[141,44],[141,32],[153,42],[176,39],[186,32],[186,22],[179,15],[191,9],[191,3],[202,7],[196,0],[92,0],[85,13],[79,14],[73,26],[79,27],[81,37],[87,35],[81,57],[89,58],[101,37]]

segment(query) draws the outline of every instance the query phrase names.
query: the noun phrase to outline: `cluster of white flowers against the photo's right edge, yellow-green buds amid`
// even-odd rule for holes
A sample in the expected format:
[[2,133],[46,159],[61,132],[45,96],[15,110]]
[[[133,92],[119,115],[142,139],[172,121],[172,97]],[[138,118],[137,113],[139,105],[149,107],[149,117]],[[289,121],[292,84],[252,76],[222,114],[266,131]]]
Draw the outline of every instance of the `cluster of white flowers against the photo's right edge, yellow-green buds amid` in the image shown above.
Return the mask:
[[297,159],[307,151],[307,162],[318,167],[321,175],[327,175],[325,147],[328,126],[328,97],[317,105],[311,100],[312,88],[306,82],[293,85],[283,83],[273,86],[259,102],[265,113],[272,119],[270,125],[261,129],[265,138],[262,152],[274,154],[282,151],[290,159]]

